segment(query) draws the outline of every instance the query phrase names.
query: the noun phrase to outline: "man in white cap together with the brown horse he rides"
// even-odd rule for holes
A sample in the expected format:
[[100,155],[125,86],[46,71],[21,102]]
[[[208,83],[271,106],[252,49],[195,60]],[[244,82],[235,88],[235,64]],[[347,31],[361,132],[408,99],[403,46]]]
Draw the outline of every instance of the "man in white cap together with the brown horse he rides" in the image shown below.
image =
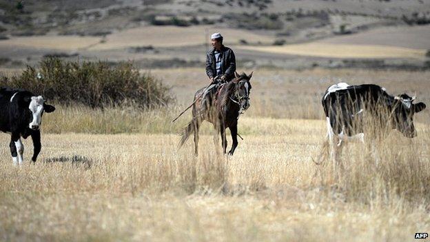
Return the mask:
[[238,118],[249,108],[249,93],[251,91],[251,74],[236,72],[236,58],[233,50],[223,46],[220,33],[212,34],[214,49],[207,52],[206,73],[211,83],[207,88],[201,88],[194,94],[194,102],[186,108],[176,119],[192,108],[192,120],[181,134],[180,148],[194,133],[194,153],[198,153],[198,130],[203,121],[208,121],[221,134],[224,154],[227,152],[225,130],[229,128],[232,134],[233,154],[238,145]]

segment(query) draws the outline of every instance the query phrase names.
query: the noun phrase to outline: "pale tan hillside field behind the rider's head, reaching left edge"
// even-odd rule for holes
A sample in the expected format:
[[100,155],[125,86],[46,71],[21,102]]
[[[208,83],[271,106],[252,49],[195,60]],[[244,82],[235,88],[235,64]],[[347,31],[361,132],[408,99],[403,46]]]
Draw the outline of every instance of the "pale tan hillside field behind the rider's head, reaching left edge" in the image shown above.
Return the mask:
[[[247,30],[232,28],[214,28],[214,26],[141,26],[130,28],[108,35],[101,43],[102,37],[70,36],[33,36],[12,37],[0,41],[0,48],[42,48],[65,51],[78,50],[115,50],[135,46],[181,47],[205,44],[205,32],[221,31],[229,37],[229,43],[238,43],[239,39],[252,42],[272,43],[274,38],[263,34],[254,34]],[[151,34],[148,34],[151,33]]]

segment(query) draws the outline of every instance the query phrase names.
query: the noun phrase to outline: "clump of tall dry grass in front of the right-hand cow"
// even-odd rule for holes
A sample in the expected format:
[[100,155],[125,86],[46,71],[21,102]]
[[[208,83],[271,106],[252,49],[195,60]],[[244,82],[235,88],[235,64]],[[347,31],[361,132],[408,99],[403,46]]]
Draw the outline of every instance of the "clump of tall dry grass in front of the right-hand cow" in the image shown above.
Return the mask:
[[[345,106],[328,107],[331,117],[336,114],[334,132],[363,133],[364,139],[350,143],[354,137],[334,136],[332,141],[327,137],[318,157],[326,161],[316,173],[321,184],[342,190],[345,200],[367,205],[392,205],[399,200],[430,204],[430,163],[423,155],[427,149],[416,143],[416,139],[428,139],[428,127],[418,132],[420,138],[407,138],[413,131],[409,122],[420,115],[412,111],[415,104],[405,108],[402,101],[371,99],[371,94],[365,100],[359,96],[361,100],[342,99],[340,95],[336,98]],[[403,115],[408,118],[403,119]],[[345,121],[345,117],[350,120]]]

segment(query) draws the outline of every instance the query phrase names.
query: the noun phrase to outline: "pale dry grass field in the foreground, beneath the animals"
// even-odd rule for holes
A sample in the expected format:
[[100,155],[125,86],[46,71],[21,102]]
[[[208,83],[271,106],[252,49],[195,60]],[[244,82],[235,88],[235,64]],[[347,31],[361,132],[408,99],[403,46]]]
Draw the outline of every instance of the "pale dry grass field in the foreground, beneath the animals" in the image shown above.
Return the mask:
[[[210,135],[201,137],[199,157],[191,143],[176,150],[174,134],[44,134],[39,161],[19,168],[1,149],[1,238],[405,241],[429,229],[427,125],[416,139],[393,132],[377,143],[378,165],[366,145],[347,143],[339,179],[328,179],[327,165],[320,183],[312,159],[322,121],[242,123],[250,130],[234,157],[219,154]],[[90,167],[43,162],[76,154]]]

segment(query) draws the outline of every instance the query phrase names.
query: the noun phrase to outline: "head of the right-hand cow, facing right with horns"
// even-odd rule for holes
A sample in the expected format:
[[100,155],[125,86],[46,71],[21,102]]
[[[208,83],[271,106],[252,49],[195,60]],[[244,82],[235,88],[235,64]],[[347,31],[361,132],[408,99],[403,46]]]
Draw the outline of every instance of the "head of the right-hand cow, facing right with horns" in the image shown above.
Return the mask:
[[394,97],[392,110],[393,128],[402,132],[405,137],[416,137],[415,126],[413,125],[413,114],[421,112],[426,108],[424,103],[413,103],[415,97],[409,97],[408,94],[401,94]]

